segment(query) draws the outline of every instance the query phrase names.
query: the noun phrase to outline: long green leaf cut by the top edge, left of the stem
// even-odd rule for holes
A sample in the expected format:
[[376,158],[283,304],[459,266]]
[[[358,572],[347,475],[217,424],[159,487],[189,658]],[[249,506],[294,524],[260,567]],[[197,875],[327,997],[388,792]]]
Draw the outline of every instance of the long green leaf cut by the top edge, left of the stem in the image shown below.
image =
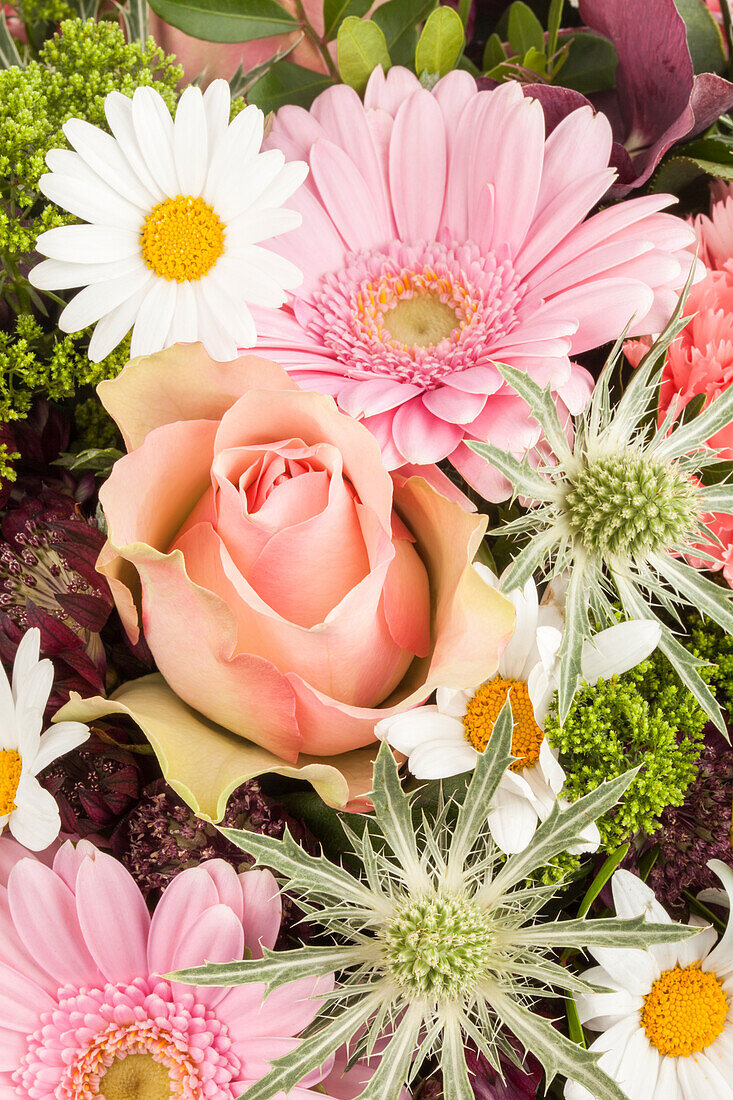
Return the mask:
[[205,42],[252,42],[298,26],[276,0],[152,0],[151,8],[171,26]]

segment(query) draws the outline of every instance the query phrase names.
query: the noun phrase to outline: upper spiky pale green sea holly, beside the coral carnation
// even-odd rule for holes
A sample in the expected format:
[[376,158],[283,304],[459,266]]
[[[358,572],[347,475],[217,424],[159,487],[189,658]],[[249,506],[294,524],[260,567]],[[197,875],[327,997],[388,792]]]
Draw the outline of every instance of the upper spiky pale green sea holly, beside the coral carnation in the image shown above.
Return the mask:
[[[522,371],[497,364],[541,426],[551,461],[533,469],[492,443],[469,443],[511,481],[515,497],[533,502],[526,515],[502,527],[503,535],[526,537],[502,579],[504,591],[522,587],[540,570],[548,580],[568,578],[559,653],[561,721],[581,681],[583,641],[617,622],[614,604],[621,603],[628,618],[658,618],[664,610],[672,620],[688,604],[733,634],[733,593],[686,561],[686,556],[712,560],[700,543],[719,540],[704,518],[733,512],[733,483],[701,481],[721,461],[707,441],[733,420],[733,386],[693,419],[676,421],[672,407],[655,424],[666,351],[689,322],[680,317],[683,300],[685,295],[613,407],[610,382],[623,337],[616,342],[575,425],[573,442],[549,391]],[[661,623],[659,648],[724,733],[720,707],[698,671],[704,662],[685,648],[667,622]]]

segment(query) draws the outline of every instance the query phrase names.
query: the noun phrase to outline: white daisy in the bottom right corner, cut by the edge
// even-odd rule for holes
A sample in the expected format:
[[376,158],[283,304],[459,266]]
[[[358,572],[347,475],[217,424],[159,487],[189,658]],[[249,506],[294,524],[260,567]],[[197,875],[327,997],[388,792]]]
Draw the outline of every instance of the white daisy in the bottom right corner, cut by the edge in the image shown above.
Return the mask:
[[[733,870],[709,864],[733,895]],[[628,871],[613,877],[621,917],[643,914],[671,924],[654,893]],[[605,993],[576,997],[581,1022],[602,1034],[591,1050],[630,1100],[733,1100],[733,921],[720,943],[714,928],[646,950],[591,947],[600,964],[583,978]],[[592,1100],[575,1081],[567,1100]]]

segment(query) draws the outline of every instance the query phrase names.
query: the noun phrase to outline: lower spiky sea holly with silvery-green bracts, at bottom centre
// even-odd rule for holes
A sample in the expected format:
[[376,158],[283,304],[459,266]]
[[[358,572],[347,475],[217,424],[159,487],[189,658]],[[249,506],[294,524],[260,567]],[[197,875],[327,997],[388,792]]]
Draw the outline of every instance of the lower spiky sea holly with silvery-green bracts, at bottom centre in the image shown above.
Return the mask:
[[529,844],[506,861],[486,828],[486,806],[512,763],[508,704],[490,747],[479,758],[460,806],[447,803],[416,824],[386,745],[374,769],[374,814],[357,834],[343,826],[362,872],[354,877],[322,856],[282,840],[226,829],[259,864],[278,872],[307,920],[332,936],[332,946],[265,952],[262,959],[209,964],[179,971],[177,980],[205,986],[263,982],[267,992],[298,978],[335,972],[314,1025],[295,1049],[273,1063],[243,1100],[288,1092],[337,1048],[369,1056],[379,1042],[379,1066],[361,1100],[396,1097],[423,1059],[436,1055],[446,1100],[473,1100],[463,1053],[468,1042],[499,1068],[500,1053],[517,1060],[508,1037],[558,1074],[592,1090],[598,1100],[625,1093],[598,1068],[598,1056],[536,1014],[536,998],[572,996],[587,983],[551,957],[556,948],[644,947],[692,935],[682,925],[642,917],[543,923],[539,913],[555,887],[527,877],[577,844],[582,829],[616,804],[635,772],[604,783],[572,805],[556,804]]

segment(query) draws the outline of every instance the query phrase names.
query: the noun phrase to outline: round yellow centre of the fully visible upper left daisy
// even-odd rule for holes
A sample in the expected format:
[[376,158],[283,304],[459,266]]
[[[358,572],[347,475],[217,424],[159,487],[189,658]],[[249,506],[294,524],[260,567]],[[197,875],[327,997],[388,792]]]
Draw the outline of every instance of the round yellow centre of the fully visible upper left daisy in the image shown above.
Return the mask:
[[225,250],[225,224],[204,199],[177,195],[145,218],[141,249],[151,271],[184,283],[203,278]]

